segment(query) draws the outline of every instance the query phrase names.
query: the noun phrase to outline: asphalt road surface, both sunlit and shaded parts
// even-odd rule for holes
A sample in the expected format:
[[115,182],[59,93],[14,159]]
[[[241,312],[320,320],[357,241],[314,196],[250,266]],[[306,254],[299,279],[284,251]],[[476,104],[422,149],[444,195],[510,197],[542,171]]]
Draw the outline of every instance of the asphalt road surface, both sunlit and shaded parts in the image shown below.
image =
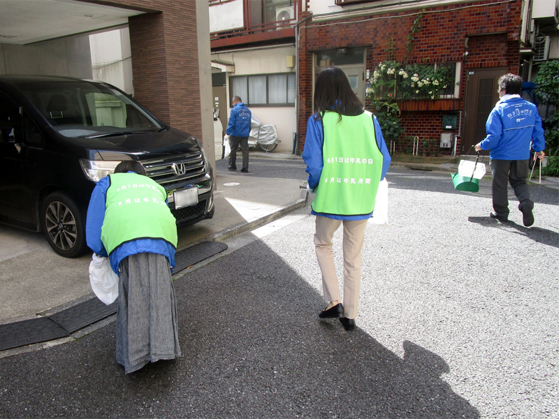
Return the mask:
[[[305,179],[301,163],[277,164]],[[557,191],[532,187],[524,228],[515,210],[488,218],[485,180],[474,194],[447,173],[387,178],[389,225],[366,231],[354,332],[317,318],[306,208],[177,278],[182,358],[126,376],[107,322],[0,359],[0,418],[558,418]],[[340,232],[335,246],[341,275]]]

